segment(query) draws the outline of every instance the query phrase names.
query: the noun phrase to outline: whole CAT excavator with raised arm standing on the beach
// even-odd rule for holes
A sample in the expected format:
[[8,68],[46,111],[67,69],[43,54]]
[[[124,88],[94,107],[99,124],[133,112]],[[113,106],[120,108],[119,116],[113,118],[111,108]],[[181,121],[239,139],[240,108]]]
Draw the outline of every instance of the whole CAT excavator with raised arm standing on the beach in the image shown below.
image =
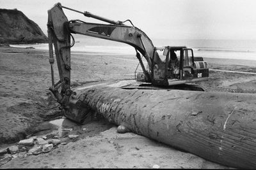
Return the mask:
[[[63,8],[82,13],[85,17],[108,22],[108,24],[68,20]],[[126,25],[124,24],[125,22],[130,22],[131,25]],[[84,108],[81,105],[81,101],[77,99],[76,92],[70,88],[70,48],[75,43],[72,34],[118,41],[134,47],[136,57],[143,70],[143,72],[136,74],[136,81],[141,82],[141,87],[147,85],[158,88],[184,89],[184,85],[186,85],[186,90],[193,90],[195,85],[189,85],[188,83],[209,80],[207,62],[202,57],[194,57],[191,48],[186,46],[156,47],[147,34],[135,27],[131,20],[125,20],[124,22],[109,20],[108,18],[93,15],[88,11],[77,11],[57,3],[51,10],[48,10],[47,32],[52,76],[52,86],[49,90],[54,94],[58,103],[61,104],[60,109],[63,115],[76,122],[81,122],[81,118],[76,117],[76,115],[83,112]],[[60,75],[60,81],[57,83],[54,82],[54,50],[52,45],[54,45]],[[163,53],[163,55],[159,55],[159,53]],[[143,64],[141,55],[147,60],[148,66]],[[172,63],[174,62],[172,60],[173,55],[175,55],[175,64]],[[199,90],[202,89],[199,88]]]

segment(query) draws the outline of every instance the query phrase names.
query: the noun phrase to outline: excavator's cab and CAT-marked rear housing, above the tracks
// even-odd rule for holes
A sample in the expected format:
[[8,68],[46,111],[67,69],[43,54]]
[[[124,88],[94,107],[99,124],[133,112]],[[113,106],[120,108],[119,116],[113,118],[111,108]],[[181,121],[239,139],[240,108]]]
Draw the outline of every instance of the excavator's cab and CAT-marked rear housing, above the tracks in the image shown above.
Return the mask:
[[155,47],[156,52],[163,52],[160,57],[163,63],[156,64],[153,56],[152,84],[179,85],[209,79],[207,62],[202,57],[194,57],[191,48],[186,48],[186,46]]

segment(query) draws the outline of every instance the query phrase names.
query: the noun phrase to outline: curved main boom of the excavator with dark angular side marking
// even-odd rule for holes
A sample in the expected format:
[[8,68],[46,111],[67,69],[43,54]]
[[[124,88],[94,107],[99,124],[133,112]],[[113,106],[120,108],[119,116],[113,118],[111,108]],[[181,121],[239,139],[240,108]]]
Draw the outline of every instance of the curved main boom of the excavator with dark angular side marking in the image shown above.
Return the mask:
[[[83,34],[131,45],[145,57],[148,66],[152,66],[154,45],[147,35],[136,27],[127,25],[93,24],[76,20],[68,22],[68,27],[70,32],[74,34]],[[158,61],[156,60],[156,62]]]

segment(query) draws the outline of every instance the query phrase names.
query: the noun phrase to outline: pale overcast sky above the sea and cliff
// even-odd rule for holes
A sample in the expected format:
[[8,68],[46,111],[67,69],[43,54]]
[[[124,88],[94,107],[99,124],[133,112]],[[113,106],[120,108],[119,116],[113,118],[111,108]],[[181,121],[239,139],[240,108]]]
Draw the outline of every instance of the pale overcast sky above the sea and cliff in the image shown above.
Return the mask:
[[[0,0],[17,8],[47,34],[47,10],[55,3],[112,20],[132,20],[149,38],[256,39],[255,0]],[[68,20],[98,22],[64,10]]]

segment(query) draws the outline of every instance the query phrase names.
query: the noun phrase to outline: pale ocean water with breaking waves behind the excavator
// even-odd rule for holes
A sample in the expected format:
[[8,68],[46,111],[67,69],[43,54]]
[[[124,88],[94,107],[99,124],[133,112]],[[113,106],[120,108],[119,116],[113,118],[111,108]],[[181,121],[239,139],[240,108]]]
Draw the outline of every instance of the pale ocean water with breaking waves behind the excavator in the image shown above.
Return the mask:
[[[74,35],[72,52],[88,52],[112,55],[135,55],[132,46],[106,39]],[[256,60],[255,40],[230,39],[152,39],[154,46],[187,46],[193,48],[195,57],[220,59]],[[33,46],[38,50],[48,50],[48,44],[11,45],[26,48]]]

